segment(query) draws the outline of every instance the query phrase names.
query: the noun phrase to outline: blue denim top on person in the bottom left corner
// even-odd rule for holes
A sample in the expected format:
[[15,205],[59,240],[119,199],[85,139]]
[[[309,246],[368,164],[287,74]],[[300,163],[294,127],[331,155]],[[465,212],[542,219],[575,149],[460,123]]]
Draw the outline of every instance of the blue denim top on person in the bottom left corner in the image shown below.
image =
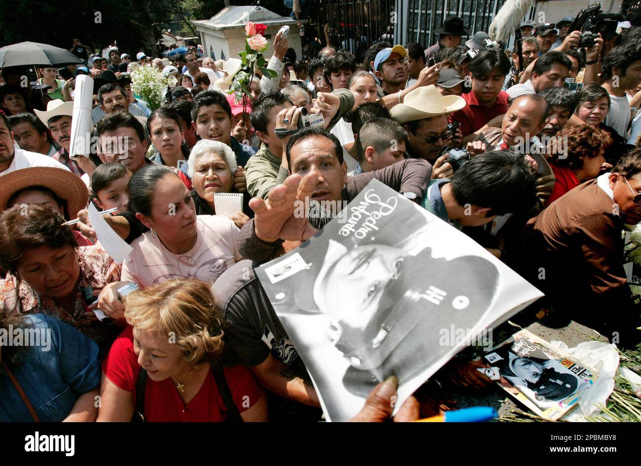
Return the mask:
[[[100,384],[98,345],[53,317],[29,314],[24,319],[21,329],[29,330],[32,336],[38,333],[40,341],[36,345],[31,338],[30,346],[19,347],[19,361],[10,364],[10,369],[41,422],[63,421],[76,399]],[[32,421],[20,394],[0,368],[0,422]]]

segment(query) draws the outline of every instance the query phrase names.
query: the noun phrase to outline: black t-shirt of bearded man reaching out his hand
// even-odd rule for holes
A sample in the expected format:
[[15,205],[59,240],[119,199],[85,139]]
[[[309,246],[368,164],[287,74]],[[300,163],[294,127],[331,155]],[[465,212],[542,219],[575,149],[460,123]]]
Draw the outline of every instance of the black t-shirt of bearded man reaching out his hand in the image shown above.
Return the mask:
[[294,344],[254,275],[253,262],[240,261],[227,269],[212,285],[212,293],[228,324],[226,362],[258,366],[271,351],[283,364],[293,369],[303,367]]

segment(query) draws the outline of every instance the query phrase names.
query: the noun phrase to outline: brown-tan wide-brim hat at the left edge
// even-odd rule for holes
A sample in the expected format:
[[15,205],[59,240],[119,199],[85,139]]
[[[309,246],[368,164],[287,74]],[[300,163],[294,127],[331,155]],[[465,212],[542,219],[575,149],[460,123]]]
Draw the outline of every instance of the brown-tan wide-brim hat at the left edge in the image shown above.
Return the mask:
[[51,189],[56,196],[67,202],[69,219],[78,216],[78,211],[87,207],[89,192],[78,175],[53,166],[31,166],[7,173],[2,177],[0,212],[5,211],[9,199],[18,191],[33,186]]

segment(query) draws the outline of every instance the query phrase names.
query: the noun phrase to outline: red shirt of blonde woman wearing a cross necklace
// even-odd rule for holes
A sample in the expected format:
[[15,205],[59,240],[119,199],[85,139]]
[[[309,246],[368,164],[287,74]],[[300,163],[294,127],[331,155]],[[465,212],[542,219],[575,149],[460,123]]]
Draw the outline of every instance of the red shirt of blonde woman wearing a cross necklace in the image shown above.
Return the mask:
[[[247,367],[239,365],[224,367],[223,370],[238,411],[247,410],[262,396],[262,387]],[[133,351],[131,326],[113,342],[109,354],[104,358],[103,371],[117,387],[131,392],[133,399],[136,399],[140,366]],[[145,417],[149,422],[222,422],[227,415],[212,371],[209,371],[203,386],[187,406],[183,404],[171,378],[161,382],[147,378]]]

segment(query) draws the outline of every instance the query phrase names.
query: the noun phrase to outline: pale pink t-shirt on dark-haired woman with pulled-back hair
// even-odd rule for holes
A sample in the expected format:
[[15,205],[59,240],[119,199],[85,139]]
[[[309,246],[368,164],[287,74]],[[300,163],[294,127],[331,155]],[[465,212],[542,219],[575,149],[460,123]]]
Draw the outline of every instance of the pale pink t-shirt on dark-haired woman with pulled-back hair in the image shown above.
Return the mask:
[[238,227],[223,215],[197,216],[196,244],[185,254],[174,254],[158,236],[146,232],[131,243],[133,251],[122,265],[121,280],[140,287],[166,282],[171,278],[199,278],[215,282],[221,274],[242,259],[238,252]]

